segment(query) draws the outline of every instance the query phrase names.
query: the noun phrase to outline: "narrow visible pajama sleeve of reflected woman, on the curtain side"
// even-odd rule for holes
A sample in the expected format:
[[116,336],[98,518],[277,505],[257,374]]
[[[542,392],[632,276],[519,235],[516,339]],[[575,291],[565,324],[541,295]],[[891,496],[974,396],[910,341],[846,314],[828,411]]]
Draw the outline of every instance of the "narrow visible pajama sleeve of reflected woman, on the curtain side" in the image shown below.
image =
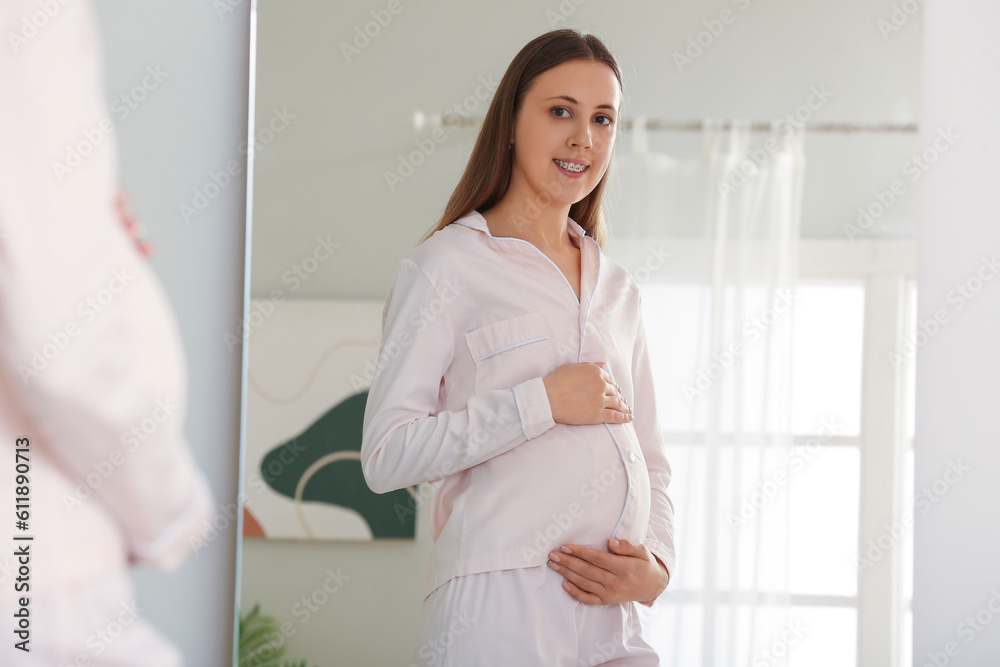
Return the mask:
[[[667,495],[671,469],[667,461],[663,442],[663,431],[656,412],[656,392],[653,387],[653,371],[649,361],[646,325],[642,316],[642,297],[639,297],[639,318],[635,347],[632,352],[633,412],[639,444],[642,446],[649,471],[650,509],[649,528],[644,544],[667,567],[673,579],[675,564],[674,551],[674,504]],[[669,583],[669,580],[668,580]]]

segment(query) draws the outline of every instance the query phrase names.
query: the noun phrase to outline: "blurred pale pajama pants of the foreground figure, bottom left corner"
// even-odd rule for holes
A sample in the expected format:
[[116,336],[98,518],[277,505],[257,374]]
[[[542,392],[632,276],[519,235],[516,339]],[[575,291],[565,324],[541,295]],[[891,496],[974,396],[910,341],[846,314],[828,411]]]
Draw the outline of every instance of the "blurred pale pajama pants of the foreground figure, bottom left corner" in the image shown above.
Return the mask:
[[[33,573],[34,574],[34,573]],[[142,618],[128,571],[45,593],[31,592],[30,652],[13,647],[15,595],[4,584],[0,665],[4,667],[183,667],[180,650]]]

